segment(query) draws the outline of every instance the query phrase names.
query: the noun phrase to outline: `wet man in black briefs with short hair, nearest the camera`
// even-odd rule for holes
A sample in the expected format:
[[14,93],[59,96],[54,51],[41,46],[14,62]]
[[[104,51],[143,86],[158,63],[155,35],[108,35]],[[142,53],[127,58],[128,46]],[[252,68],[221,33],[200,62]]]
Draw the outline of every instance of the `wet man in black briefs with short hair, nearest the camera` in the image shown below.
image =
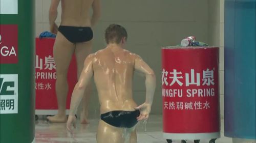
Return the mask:
[[[108,44],[106,48],[87,57],[71,98],[67,122],[69,131],[72,132],[72,126],[75,127],[74,114],[83,97],[83,91],[94,76],[101,113],[97,142],[137,142],[135,125],[140,120],[146,120],[150,114],[156,77],[139,55],[124,49],[126,39],[125,28],[111,24],[105,31],[105,41]],[[139,71],[146,77],[146,99],[139,106],[133,99],[134,71]]]

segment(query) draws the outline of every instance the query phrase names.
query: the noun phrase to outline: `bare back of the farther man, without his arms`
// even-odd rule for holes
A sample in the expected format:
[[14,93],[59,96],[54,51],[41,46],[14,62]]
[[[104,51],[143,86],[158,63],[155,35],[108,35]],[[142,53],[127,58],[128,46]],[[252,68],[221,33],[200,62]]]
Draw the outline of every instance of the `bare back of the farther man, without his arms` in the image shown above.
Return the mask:
[[61,0],[61,25],[91,26],[90,8],[94,0]]

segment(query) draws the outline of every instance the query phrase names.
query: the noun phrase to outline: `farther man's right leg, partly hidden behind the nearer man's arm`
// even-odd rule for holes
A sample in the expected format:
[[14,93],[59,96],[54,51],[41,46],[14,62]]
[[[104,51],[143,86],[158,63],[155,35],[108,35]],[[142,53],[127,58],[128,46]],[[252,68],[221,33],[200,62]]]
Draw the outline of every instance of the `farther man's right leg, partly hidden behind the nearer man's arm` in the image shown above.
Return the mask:
[[[92,52],[92,41],[77,43],[75,48],[76,55],[76,63],[77,63],[77,78],[79,79],[80,73],[83,69],[84,60],[86,60],[87,56]],[[80,122],[82,124],[87,124],[88,122],[88,105],[91,95],[91,83],[86,87],[84,91],[84,96],[81,101],[81,114],[80,114]]]

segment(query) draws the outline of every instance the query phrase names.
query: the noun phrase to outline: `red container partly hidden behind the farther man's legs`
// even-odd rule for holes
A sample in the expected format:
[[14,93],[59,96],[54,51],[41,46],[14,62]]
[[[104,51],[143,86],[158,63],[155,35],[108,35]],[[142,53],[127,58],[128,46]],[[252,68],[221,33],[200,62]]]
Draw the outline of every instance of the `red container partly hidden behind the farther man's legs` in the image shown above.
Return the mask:
[[[56,110],[58,109],[57,97],[55,92],[56,66],[53,58],[54,38],[36,38],[36,63],[35,63],[35,79],[36,79],[36,102],[37,110]],[[77,82],[76,61],[73,56],[69,71],[68,83],[69,92],[67,97],[67,109],[70,107],[71,94]]]

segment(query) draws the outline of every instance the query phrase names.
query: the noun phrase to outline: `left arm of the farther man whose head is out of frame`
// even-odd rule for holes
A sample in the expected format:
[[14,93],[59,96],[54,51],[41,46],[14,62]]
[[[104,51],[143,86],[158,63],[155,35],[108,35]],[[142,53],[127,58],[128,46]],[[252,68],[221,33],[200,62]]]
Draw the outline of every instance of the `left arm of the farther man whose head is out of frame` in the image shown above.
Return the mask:
[[55,23],[55,20],[58,16],[58,5],[59,5],[60,0],[52,0],[51,6],[49,9],[49,23],[50,23],[50,31],[54,34],[57,33],[57,25]]

